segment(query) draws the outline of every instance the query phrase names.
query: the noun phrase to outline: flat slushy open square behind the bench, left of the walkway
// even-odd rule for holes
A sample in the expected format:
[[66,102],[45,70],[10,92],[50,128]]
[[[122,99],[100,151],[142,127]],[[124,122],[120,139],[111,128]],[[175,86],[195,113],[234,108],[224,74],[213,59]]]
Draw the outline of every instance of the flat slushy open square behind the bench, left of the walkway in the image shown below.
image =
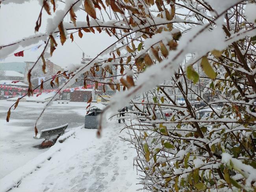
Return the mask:
[[[33,138],[35,120],[46,103],[20,102],[15,111],[11,111],[7,123],[6,114],[12,104],[0,100],[0,179],[47,150],[35,148],[43,140]],[[85,106],[83,102],[54,102],[37,128],[40,131],[65,123],[69,123],[68,129],[81,126],[84,124]]]

